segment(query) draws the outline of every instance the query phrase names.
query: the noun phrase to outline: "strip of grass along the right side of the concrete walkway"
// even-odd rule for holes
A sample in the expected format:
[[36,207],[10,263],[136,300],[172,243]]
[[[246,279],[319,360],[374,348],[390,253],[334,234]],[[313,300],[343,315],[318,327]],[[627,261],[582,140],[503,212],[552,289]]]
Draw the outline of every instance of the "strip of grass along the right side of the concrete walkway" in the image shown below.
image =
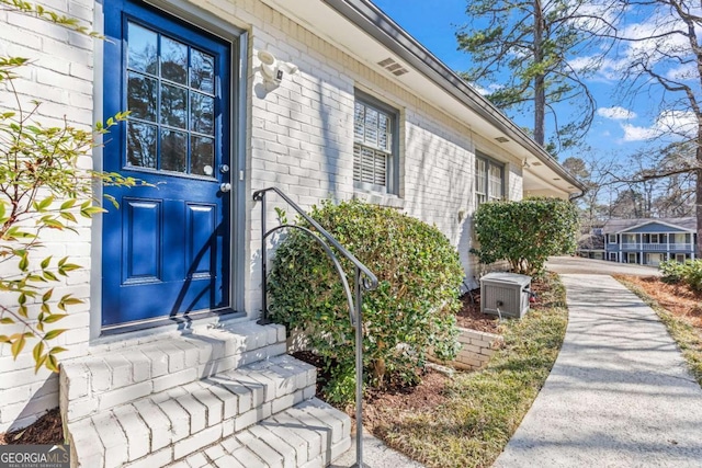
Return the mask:
[[656,311],[660,321],[665,323],[668,333],[678,343],[682,357],[688,362],[690,373],[702,387],[702,332],[681,318],[676,317],[663,308],[654,298],[648,296],[641,287],[621,277],[616,281],[626,286],[632,293],[641,297],[652,309]]

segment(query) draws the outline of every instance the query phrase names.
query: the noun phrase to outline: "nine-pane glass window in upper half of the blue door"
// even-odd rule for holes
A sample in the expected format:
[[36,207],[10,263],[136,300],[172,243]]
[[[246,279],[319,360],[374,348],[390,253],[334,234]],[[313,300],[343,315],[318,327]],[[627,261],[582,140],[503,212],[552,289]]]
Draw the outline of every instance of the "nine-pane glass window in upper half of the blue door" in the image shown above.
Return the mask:
[[127,31],[125,163],[216,176],[215,56],[133,22]]

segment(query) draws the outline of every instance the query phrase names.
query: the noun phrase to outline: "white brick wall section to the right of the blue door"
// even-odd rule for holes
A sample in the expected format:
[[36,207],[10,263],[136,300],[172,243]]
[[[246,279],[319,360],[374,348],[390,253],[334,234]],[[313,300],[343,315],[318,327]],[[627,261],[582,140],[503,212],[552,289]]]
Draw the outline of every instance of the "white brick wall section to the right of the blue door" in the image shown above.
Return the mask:
[[[249,3],[247,3],[249,4]],[[252,103],[250,192],[278,186],[303,208],[331,197],[361,197],[403,208],[435,224],[460,250],[466,274],[475,275],[467,251],[472,247],[471,214],[475,151],[506,165],[510,199],[522,196],[520,161],[476,135],[430,103],[394,82],[389,75],[359,62],[314,32],[257,4],[237,11],[251,24]],[[261,24],[260,19],[264,22]],[[299,73],[286,75],[279,88],[265,92],[257,73],[256,54],[265,49],[279,60],[292,61]],[[353,189],[353,93],[362,89],[400,111],[400,197],[377,196]],[[248,189],[248,187],[247,187]],[[260,212],[249,203],[250,252],[254,267],[246,283],[246,308],[260,309]],[[291,213],[284,205],[272,203]],[[269,226],[275,224],[271,209]]]

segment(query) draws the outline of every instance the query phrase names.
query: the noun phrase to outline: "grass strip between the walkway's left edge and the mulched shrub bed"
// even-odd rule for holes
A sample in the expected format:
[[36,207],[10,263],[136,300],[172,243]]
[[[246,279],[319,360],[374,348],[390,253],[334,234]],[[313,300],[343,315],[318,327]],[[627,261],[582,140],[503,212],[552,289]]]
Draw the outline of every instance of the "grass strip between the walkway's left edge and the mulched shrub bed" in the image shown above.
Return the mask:
[[449,384],[449,400],[401,416],[381,434],[390,447],[428,467],[488,467],[502,452],[543,387],[567,324],[565,289],[546,281],[540,309],[503,326],[505,347],[476,373]]

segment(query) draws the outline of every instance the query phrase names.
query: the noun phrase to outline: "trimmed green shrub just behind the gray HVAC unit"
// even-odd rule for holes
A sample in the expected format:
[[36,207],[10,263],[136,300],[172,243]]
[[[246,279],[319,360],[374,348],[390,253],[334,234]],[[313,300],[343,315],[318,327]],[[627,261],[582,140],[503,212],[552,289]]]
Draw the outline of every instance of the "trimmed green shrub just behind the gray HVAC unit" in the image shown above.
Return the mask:
[[561,198],[482,204],[475,214],[480,263],[507,260],[516,273],[543,272],[548,255],[575,252],[578,212]]

